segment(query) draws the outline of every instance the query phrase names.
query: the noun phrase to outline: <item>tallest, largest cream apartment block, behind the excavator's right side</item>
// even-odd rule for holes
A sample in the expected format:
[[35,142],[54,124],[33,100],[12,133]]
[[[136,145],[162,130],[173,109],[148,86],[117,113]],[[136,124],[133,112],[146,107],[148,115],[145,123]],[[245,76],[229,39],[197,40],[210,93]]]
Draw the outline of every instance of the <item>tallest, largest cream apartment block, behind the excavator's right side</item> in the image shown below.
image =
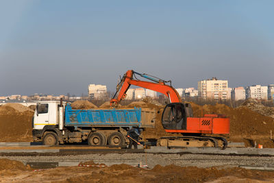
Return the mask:
[[198,96],[201,99],[227,99],[227,80],[202,80],[198,82]]

